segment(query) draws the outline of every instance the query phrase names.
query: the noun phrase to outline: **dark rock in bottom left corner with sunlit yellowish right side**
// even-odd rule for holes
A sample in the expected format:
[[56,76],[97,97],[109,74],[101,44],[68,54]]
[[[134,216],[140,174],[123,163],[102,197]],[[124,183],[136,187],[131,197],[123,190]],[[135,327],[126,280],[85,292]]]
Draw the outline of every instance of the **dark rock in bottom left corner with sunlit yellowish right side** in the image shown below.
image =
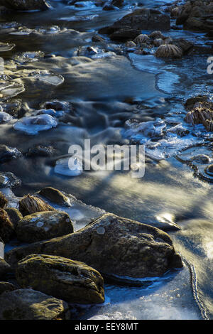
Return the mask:
[[57,320],[66,318],[65,301],[32,289],[4,292],[0,296],[1,320]]

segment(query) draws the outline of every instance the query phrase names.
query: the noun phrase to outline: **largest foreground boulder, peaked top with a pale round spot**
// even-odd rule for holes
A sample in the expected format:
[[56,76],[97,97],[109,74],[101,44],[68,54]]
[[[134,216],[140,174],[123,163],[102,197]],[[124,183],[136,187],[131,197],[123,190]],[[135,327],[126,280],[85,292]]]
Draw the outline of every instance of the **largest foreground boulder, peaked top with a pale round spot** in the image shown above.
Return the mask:
[[165,232],[112,214],[102,215],[71,235],[13,249],[6,259],[16,266],[28,254],[58,255],[101,273],[131,277],[160,276],[182,266]]

